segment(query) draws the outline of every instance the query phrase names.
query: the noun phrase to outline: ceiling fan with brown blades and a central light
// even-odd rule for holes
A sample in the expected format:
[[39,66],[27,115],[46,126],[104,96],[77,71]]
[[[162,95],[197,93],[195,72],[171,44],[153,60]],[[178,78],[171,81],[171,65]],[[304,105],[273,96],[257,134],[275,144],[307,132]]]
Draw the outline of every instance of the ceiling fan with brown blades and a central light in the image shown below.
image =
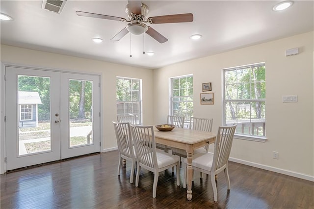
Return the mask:
[[139,0],[128,0],[129,4],[126,6],[126,13],[128,18],[114,17],[109,15],[95,14],[89,12],[76,11],[78,16],[101,18],[106,20],[116,20],[122,22],[129,22],[129,24],[118,32],[110,41],[119,41],[126,34],[131,32],[134,35],[140,35],[146,32],[153,37],[159,43],[168,41],[166,37],[158,33],[151,26],[147,26],[145,23],[150,24],[163,24],[163,23],[188,23],[193,22],[193,14],[175,14],[175,15],[163,15],[156,17],[147,17],[149,8],[146,4],[141,3]]

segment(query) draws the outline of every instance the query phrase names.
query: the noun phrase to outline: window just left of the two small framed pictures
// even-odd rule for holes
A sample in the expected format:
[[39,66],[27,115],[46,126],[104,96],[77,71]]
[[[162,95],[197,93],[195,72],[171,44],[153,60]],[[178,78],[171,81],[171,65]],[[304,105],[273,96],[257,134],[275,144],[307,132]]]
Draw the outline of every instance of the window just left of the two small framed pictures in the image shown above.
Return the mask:
[[184,116],[184,124],[188,124],[193,116],[193,75],[170,78],[170,83],[170,114]]

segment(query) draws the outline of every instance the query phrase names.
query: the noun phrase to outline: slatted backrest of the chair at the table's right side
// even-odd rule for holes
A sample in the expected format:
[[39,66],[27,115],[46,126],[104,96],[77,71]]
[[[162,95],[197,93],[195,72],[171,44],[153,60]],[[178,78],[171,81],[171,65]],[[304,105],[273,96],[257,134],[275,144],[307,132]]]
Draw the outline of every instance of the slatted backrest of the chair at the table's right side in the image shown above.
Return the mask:
[[220,126],[215,141],[212,168],[218,170],[227,164],[230,157],[232,141],[235,134],[236,124],[233,126]]

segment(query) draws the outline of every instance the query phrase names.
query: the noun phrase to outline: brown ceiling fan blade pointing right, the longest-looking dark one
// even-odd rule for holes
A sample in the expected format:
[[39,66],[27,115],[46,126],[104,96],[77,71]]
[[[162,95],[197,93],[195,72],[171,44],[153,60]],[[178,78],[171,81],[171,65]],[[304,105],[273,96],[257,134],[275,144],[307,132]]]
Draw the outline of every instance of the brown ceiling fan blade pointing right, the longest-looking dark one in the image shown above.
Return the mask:
[[163,15],[148,18],[150,24],[161,24],[161,23],[189,23],[193,22],[193,14],[177,14],[177,15]]

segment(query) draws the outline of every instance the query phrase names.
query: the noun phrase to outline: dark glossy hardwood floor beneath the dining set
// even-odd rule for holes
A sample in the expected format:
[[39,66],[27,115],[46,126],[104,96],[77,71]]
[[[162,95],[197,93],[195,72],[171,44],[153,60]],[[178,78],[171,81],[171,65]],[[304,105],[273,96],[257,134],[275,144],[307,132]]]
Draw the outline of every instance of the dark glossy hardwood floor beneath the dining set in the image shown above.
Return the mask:
[[[130,163],[117,176],[118,151],[78,157],[1,175],[1,209],[314,209],[314,182],[229,162],[231,190],[218,175],[218,202],[210,178],[195,172],[192,201],[186,200],[171,169],[161,172],[157,198],[154,175],[141,170],[140,185],[130,183]],[[176,174],[175,174],[176,175]]]

